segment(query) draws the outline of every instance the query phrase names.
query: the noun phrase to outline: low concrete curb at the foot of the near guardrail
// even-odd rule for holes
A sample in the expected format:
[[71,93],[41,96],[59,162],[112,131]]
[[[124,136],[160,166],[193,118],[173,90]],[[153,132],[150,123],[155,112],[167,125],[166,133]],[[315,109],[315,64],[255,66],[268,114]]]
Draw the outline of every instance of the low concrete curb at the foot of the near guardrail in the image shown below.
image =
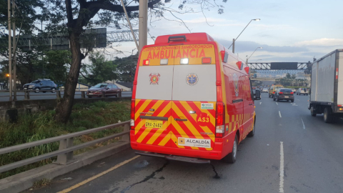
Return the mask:
[[88,164],[91,164],[99,159],[104,159],[113,154],[119,153],[125,149],[130,148],[130,142],[116,142],[114,144],[106,145],[93,149],[84,154],[79,154],[74,157],[74,162],[67,165],[47,164],[42,167],[30,169],[20,174],[15,174],[11,177],[0,179],[0,192],[21,192],[32,187],[34,182],[40,179],[54,179],[62,174],[66,174],[75,169],[79,169]]

